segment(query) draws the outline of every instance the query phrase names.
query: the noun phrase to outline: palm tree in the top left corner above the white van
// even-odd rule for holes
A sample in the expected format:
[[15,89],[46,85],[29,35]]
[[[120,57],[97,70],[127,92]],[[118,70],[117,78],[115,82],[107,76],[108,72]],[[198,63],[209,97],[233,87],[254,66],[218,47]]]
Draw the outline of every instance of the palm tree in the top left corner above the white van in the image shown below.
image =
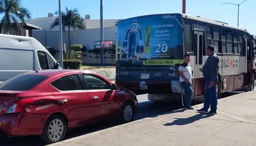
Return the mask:
[[1,29],[6,32],[9,32],[10,27],[15,27],[18,32],[21,32],[21,20],[23,19],[24,23],[25,19],[31,19],[31,12],[21,6],[21,0],[0,0],[0,14],[4,15],[0,20]]

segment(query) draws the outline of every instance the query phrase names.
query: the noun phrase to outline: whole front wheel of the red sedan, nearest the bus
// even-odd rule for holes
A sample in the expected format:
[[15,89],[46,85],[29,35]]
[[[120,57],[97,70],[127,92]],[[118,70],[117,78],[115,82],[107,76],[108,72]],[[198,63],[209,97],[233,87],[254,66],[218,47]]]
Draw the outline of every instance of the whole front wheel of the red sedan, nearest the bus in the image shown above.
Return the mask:
[[134,105],[130,102],[124,102],[121,107],[120,119],[122,123],[129,123],[133,119],[135,113]]

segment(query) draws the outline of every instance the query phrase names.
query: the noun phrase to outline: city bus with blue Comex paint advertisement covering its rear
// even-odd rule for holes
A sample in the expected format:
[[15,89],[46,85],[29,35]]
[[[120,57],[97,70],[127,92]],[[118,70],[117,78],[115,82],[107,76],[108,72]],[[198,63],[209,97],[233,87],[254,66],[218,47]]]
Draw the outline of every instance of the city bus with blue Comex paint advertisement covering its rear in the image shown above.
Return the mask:
[[[218,98],[221,93],[255,87],[255,35],[245,28],[187,14],[156,14],[122,19],[117,24],[115,83],[152,101],[180,98],[178,66],[191,55],[193,100],[203,97],[205,80],[199,71],[208,45],[219,57]],[[121,49],[121,50],[122,50]]]

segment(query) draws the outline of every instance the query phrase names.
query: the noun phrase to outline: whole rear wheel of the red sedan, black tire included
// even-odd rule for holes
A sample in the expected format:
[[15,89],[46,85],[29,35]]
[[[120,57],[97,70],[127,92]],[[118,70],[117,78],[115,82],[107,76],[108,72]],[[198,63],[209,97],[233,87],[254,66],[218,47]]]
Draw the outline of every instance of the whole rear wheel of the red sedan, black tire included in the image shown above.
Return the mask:
[[[54,126],[54,123],[56,122],[57,122],[57,126]],[[51,129],[53,129],[52,132],[51,132]],[[51,144],[51,143],[61,141],[64,138],[65,134],[66,134],[66,121],[60,115],[53,115],[53,116],[50,116],[45,122],[45,126],[41,134],[41,139],[47,144]]]

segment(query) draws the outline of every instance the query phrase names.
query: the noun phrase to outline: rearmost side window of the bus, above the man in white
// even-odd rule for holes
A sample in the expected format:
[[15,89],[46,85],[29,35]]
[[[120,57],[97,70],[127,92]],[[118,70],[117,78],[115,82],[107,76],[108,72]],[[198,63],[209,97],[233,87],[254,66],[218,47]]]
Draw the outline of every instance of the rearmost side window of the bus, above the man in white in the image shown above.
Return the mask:
[[185,28],[185,48],[187,52],[193,52],[193,42],[192,42],[192,23],[191,21],[184,20]]

